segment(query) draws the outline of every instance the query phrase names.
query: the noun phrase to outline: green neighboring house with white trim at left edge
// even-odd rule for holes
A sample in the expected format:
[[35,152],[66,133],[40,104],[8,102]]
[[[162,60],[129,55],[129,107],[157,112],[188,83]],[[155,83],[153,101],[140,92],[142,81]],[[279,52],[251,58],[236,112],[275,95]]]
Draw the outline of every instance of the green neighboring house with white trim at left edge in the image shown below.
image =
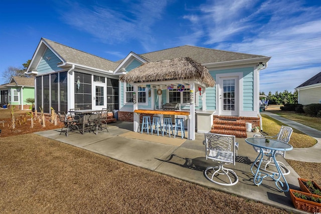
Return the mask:
[[9,83],[0,85],[0,103],[17,106],[20,110],[28,110],[31,103],[27,98],[35,98],[34,78],[12,77]]

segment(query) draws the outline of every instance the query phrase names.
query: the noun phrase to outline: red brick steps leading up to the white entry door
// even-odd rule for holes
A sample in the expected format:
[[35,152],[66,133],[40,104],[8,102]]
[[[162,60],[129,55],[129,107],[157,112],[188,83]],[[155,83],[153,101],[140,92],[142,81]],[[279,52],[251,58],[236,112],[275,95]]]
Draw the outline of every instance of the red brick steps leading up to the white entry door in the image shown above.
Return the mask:
[[235,135],[239,138],[246,138],[246,121],[233,116],[214,116],[212,133]]

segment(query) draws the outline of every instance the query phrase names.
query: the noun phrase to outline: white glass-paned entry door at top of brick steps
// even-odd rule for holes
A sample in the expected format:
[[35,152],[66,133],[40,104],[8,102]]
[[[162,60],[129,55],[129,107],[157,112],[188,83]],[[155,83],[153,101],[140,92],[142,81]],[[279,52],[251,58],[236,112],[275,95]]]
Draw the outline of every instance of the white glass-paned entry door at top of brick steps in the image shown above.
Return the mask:
[[224,116],[239,116],[238,77],[219,79],[219,112]]

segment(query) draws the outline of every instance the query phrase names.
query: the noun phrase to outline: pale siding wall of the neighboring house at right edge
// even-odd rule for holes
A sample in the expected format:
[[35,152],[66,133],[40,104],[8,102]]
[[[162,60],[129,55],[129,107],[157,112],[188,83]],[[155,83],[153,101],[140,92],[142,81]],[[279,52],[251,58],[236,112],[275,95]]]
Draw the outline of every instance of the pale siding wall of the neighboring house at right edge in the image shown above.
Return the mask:
[[321,103],[321,86],[307,89],[300,89],[298,92],[298,103],[308,105]]

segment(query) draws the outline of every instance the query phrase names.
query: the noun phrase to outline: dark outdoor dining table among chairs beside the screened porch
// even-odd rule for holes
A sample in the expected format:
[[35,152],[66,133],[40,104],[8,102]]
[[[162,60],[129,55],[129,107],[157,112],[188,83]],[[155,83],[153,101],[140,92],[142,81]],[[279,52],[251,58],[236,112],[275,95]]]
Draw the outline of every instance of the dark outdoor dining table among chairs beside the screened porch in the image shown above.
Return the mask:
[[[80,116],[80,124],[81,124],[80,132],[84,134],[85,131],[91,130],[92,127],[89,126],[89,124],[92,122],[93,119],[97,119],[98,112],[100,111],[101,110],[83,109],[83,110],[72,110],[69,112]],[[97,115],[97,117],[93,117],[95,115]]]

